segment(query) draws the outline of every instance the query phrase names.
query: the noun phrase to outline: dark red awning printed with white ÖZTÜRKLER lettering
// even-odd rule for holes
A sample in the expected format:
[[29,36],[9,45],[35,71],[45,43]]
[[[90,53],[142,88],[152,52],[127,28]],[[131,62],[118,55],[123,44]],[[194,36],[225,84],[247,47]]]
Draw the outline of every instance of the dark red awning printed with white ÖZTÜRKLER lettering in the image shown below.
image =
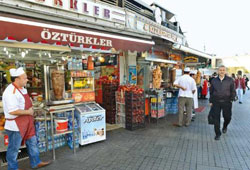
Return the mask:
[[148,51],[153,41],[0,16],[0,40],[101,50]]

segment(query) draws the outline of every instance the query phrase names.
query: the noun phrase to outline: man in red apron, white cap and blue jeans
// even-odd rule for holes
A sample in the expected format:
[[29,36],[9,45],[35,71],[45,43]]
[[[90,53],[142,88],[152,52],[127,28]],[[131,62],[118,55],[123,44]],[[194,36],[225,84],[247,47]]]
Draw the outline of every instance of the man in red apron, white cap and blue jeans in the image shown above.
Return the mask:
[[32,168],[44,167],[50,162],[41,162],[35,136],[34,110],[24,88],[28,82],[23,68],[10,69],[12,83],[3,93],[3,109],[6,119],[5,130],[9,144],[6,154],[8,170],[17,170],[17,155],[21,145],[26,144]]

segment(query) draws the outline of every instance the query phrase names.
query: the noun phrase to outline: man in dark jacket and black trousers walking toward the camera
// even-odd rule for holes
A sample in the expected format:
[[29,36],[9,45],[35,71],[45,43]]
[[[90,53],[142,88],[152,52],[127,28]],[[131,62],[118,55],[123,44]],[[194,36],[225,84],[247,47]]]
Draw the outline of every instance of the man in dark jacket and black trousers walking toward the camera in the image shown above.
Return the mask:
[[226,67],[220,66],[218,70],[219,76],[214,78],[210,87],[210,106],[213,110],[215,140],[219,140],[221,136],[220,117],[223,111],[224,124],[222,132],[227,132],[227,127],[232,117],[232,102],[235,100],[236,91],[234,80],[226,76]]

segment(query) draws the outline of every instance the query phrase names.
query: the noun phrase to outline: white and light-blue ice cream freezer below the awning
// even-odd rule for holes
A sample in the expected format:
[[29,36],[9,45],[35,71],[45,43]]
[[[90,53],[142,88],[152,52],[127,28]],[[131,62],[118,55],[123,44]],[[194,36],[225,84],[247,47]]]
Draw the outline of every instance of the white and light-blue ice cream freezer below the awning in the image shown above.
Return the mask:
[[105,109],[95,102],[77,104],[75,108],[76,118],[80,128],[80,145],[105,140]]

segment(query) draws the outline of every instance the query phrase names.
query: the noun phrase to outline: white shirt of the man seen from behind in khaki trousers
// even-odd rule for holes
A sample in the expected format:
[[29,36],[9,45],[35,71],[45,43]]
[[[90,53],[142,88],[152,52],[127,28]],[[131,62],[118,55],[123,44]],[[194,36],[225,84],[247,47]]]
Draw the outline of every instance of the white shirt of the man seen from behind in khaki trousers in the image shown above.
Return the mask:
[[186,74],[175,80],[174,85],[179,85],[186,88],[185,91],[182,89],[179,90],[179,97],[193,98],[194,95],[192,91],[197,90],[194,79]]

